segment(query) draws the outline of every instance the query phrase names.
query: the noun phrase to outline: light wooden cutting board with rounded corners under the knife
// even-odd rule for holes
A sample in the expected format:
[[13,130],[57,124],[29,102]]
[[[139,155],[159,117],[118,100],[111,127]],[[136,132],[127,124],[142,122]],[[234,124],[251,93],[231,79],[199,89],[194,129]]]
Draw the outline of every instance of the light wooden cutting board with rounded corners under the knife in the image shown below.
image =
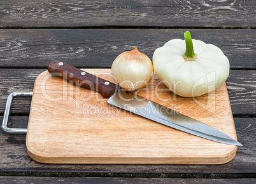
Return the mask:
[[[113,79],[110,69],[84,69]],[[236,139],[227,87],[197,98],[175,95],[154,76],[140,96],[202,121]],[[120,108],[89,89],[45,71],[34,84],[27,152],[43,163],[223,164],[237,147],[199,138]]]

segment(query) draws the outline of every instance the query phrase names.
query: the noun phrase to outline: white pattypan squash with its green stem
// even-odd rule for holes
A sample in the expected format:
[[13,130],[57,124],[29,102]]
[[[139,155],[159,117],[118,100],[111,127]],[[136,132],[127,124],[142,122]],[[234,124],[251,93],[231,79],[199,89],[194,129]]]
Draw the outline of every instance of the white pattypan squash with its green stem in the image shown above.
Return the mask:
[[196,97],[210,93],[229,76],[229,60],[213,44],[192,39],[172,39],[153,53],[153,69],[157,77],[173,93]]

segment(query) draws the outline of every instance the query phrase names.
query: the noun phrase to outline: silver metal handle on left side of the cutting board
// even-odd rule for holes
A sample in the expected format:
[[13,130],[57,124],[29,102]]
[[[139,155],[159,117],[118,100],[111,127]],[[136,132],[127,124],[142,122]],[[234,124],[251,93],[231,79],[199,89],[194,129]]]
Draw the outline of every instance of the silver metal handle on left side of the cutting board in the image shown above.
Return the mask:
[[5,110],[4,110],[3,124],[2,124],[2,129],[5,133],[11,133],[11,134],[27,133],[27,128],[8,128],[7,123],[10,115],[11,103],[13,102],[13,98],[15,96],[32,96],[32,95],[33,95],[32,91],[18,91],[18,92],[13,92],[8,96]]

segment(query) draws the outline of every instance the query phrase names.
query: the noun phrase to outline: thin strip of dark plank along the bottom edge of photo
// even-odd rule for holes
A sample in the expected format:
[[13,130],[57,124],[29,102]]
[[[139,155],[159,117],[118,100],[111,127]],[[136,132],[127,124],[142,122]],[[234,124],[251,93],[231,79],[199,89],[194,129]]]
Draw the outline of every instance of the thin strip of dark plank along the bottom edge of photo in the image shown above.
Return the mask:
[[0,176],[2,184],[5,183],[255,183],[255,178],[243,179],[203,179],[203,178],[57,178],[57,177],[24,177]]

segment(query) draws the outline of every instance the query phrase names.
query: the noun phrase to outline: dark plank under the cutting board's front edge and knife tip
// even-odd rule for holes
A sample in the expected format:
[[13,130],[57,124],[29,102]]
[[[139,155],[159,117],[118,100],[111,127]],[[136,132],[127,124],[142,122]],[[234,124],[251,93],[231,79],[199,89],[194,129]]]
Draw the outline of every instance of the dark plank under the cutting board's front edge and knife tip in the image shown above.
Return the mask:
[[[10,127],[24,128],[27,121],[28,117],[11,117]],[[8,135],[0,129],[0,176],[253,178],[256,118],[234,118],[234,122],[243,147],[238,147],[231,162],[220,165],[40,164],[27,155],[25,135]]]

